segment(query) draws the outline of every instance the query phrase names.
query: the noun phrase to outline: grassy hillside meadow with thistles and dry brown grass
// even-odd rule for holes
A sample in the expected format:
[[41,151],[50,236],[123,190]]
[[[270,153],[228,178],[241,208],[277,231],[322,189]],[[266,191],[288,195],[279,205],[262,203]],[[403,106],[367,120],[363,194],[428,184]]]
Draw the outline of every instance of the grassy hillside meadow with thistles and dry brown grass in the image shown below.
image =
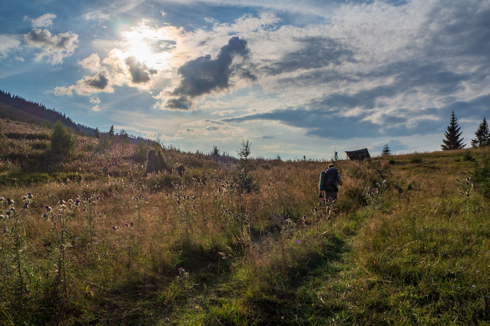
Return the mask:
[[55,159],[50,130],[0,128],[5,325],[489,325],[488,149],[339,160],[333,205],[326,161],[255,158],[246,193],[230,157],[160,148],[147,175],[157,144]]

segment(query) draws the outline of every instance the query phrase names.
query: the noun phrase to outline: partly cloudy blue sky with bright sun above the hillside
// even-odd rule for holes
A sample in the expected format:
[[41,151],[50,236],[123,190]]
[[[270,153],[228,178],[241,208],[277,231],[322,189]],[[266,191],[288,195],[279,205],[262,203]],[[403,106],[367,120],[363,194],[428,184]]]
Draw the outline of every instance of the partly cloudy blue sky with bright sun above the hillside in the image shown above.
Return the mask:
[[490,0],[0,3],[0,89],[184,151],[469,146],[489,73]]

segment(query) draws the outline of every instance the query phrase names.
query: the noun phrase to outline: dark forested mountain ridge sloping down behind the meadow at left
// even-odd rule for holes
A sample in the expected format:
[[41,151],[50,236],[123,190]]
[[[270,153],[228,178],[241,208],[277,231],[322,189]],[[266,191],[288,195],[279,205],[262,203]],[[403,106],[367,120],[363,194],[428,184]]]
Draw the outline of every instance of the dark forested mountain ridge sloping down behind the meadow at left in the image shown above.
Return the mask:
[[0,90],[0,117],[29,123],[34,122],[35,124],[43,122],[53,124],[59,120],[65,126],[88,135],[93,134],[95,131],[94,128],[73,122],[64,113],[46,108],[46,106],[37,102],[27,101],[19,95],[10,94],[10,92],[5,92],[4,90]]

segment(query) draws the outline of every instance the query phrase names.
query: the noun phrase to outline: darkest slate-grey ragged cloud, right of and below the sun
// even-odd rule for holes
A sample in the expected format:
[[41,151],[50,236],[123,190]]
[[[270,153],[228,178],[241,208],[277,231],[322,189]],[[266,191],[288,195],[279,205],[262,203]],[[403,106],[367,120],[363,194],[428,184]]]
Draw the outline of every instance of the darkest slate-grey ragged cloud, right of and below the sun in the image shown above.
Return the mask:
[[235,36],[221,47],[216,59],[211,59],[211,55],[207,54],[188,61],[178,69],[183,80],[172,92],[178,99],[167,100],[166,106],[170,109],[188,109],[192,98],[232,87],[230,78],[234,75],[256,80],[244,66],[233,65],[233,58],[241,57],[245,61],[248,54],[246,41]]

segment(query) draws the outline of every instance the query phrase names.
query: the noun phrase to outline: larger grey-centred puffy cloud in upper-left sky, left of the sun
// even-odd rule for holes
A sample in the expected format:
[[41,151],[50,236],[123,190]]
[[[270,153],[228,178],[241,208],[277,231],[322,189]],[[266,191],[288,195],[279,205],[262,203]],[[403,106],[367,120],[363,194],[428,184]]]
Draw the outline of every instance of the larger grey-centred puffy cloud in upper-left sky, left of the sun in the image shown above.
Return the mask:
[[44,57],[52,64],[62,64],[63,58],[72,55],[78,47],[78,35],[73,32],[51,35],[47,29],[33,28],[24,35],[24,42],[31,47],[41,49],[36,55],[39,61]]

